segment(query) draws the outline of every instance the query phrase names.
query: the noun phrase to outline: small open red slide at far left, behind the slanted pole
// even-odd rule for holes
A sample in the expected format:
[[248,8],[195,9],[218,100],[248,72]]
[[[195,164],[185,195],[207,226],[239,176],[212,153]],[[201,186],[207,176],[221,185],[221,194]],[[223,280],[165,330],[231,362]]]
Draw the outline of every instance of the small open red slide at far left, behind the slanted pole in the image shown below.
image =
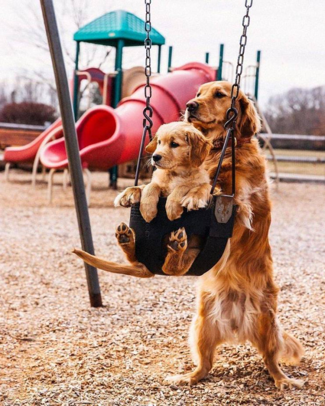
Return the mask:
[[[4,160],[7,162],[29,162],[33,161],[40,145],[43,140],[48,136],[48,134],[61,126],[61,119],[58,118],[54,123],[52,123],[45,131],[43,131],[35,140],[32,140],[29,144],[23,145],[21,147],[7,147],[4,152]],[[54,136],[54,132],[53,132]],[[55,137],[56,133],[55,133]]]

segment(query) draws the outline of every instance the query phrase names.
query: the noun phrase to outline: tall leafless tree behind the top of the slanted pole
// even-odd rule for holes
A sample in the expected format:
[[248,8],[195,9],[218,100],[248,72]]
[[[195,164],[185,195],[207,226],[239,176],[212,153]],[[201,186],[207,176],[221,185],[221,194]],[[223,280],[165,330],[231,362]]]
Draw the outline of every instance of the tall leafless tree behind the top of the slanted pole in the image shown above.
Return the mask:
[[[89,10],[93,10],[93,7],[91,7],[89,0],[61,0],[56,2],[55,6],[64,61],[68,75],[70,76],[75,64],[75,42],[72,40],[73,33],[89,20],[88,12]],[[98,12],[99,10],[97,9],[96,11]],[[13,38],[19,39],[20,52],[21,43],[23,43],[26,52],[28,52],[29,55],[34,55],[35,61],[40,62],[38,69],[25,70],[21,77],[47,84],[48,93],[51,93],[53,99],[55,94],[55,82],[39,3],[34,0],[29,0],[27,4],[22,5],[22,7],[16,10],[16,15],[20,21],[10,28],[15,33]],[[103,66],[110,51],[111,49],[107,49],[107,47],[83,44],[80,68],[83,69],[90,65],[95,67]],[[53,103],[57,106],[56,97]]]

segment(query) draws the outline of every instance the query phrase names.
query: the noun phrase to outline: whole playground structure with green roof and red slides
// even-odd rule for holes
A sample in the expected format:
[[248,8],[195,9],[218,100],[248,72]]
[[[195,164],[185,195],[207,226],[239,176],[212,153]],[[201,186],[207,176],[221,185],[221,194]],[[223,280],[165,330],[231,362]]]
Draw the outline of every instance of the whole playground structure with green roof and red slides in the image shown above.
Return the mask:
[[[87,177],[87,200],[91,189],[91,170],[110,171],[110,185],[116,187],[117,166],[137,158],[141,136],[141,119],[144,108],[142,67],[133,67],[122,71],[122,55],[125,46],[143,46],[144,21],[137,16],[118,10],[107,13],[81,27],[74,35],[76,41],[76,61],[74,79],[71,87],[75,118],[79,116],[79,95],[82,81],[97,83],[103,96],[103,106],[88,108],[76,123],[80,156]],[[178,120],[185,110],[185,104],[196,92],[198,86],[207,81],[233,80],[234,67],[224,60],[224,45],[220,45],[217,66],[209,66],[210,54],[206,53],[205,62],[193,62],[179,68],[172,66],[173,47],[168,51],[168,74],[160,75],[161,46],[165,38],[151,28],[152,45],[158,46],[157,73],[152,74],[154,122],[159,126],[172,120]],[[98,68],[88,67],[79,70],[81,43],[93,43],[116,48],[115,70],[104,73]],[[247,78],[253,83],[252,97],[257,97],[258,71],[261,52],[257,52],[256,65],[249,66],[249,72],[243,76],[244,86]],[[255,70],[255,80],[253,71]],[[156,77],[155,77],[156,76]],[[246,86],[247,87],[247,86]],[[129,97],[128,97],[129,96]],[[159,100],[159,101],[158,101]],[[257,103],[255,99],[255,103]],[[90,100],[88,100],[88,107]],[[114,108],[117,108],[115,111]],[[155,130],[154,128],[153,130]],[[275,159],[269,139],[265,140]],[[53,176],[55,171],[63,170],[63,188],[67,186],[68,159],[63,140],[63,129],[58,119],[33,142],[18,148],[7,148],[4,158],[6,178],[13,162],[33,161],[32,184],[41,162],[43,178],[48,176],[48,197],[52,198]]]

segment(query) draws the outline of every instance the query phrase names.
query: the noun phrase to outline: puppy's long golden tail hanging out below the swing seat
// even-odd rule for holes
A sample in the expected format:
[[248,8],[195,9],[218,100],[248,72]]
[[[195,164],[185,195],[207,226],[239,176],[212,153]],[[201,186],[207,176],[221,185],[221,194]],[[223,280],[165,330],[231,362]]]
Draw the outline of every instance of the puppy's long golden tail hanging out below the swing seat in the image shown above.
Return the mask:
[[78,250],[76,248],[74,248],[71,252],[78,255],[79,258],[83,259],[83,261],[89,265],[106,270],[107,272],[111,272],[113,274],[131,275],[138,278],[151,278],[154,276],[150,270],[140,262],[133,265],[120,265],[116,262],[106,261],[105,259],[88,254],[87,252]]

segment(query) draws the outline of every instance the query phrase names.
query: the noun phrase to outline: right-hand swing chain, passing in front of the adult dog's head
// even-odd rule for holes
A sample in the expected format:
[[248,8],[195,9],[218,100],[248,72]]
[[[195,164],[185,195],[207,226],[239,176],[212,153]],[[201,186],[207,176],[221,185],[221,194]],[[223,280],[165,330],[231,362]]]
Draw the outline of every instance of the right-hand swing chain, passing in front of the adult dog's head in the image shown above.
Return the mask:
[[[238,116],[238,111],[235,108],[235,103],[236,99],[239,94],[240,90],[240,79],[241,75],[243,73],[243,64],[244,64],[244,53],[245,53],[245,47],[247,44],[247,28],[250,23],[250,17],[249,17],[249,9],[253,5],[253,0],[245,0],[245,7],[246,7],[246,14],[243,17],[243,33],[240,37],[239,41],[239,55],[237,59],[237,66],[236,66],[236,77],[235,77],[235,83],[232,86],[232,92],[231,92],[231,98],[232,98],[232,104],[231,107],[228,109],[226,113],[226,123],[224,124],[224,128],[232,128],[233,130],[235,129],[236,126],[236,119]],[[231,115],[232,114],[232,115]]]

